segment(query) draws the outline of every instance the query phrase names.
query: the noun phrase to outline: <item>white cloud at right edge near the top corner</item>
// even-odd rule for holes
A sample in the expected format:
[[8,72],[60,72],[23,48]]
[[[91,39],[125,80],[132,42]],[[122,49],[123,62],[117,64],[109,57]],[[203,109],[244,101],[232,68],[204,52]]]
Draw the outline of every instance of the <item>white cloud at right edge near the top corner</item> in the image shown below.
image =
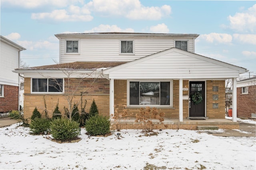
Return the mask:
[[245,12],[238,12],[234,16],[228,16],[229,27],[238,32],[256,32],[256,4]]

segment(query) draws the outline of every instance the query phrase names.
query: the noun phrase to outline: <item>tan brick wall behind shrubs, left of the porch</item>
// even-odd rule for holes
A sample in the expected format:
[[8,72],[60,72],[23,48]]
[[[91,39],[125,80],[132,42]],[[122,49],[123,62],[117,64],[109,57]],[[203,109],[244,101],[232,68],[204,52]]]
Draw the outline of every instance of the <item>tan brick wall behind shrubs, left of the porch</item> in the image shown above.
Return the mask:
[[[101,115],[109,116],[109,80],[104,78],[99,78],[96,81],[94,79],[87,79],[80,82],[79,78],[70,79],[70,86],[66,86],[65,84],[65,94],[69,92],[74,92],[74,89],[78,87],[76,90],[76,94],[74,95],[73,102],[80,101],[81,92],[85,92],[83,95],[83,99],[87,100],[86,112],[89,112],[90,106],[92,104],[92,100],[94,99],[96,105],[98,107],[98,111]],[[67,82],[67,80],[65,80]],[[80,82],[80,83],[79,83]],[[46,106],[48,110],[48,114],[52,117],[52,112],[56,107],[56,104],[59,100],[59,109],[64,113],[64,106],[68,106],[68,102],[66,99],[66,95],[63,94],[31,94],[30,93],[30,78],[25,78],[24,80],[24,117],[30,118],[32,112],[35,107],[37,107],[38,111],[42,113],[45,109],[44,107],[44,99],[46,100]],[[80,105],[78,105],[78,109],[80,110]]]

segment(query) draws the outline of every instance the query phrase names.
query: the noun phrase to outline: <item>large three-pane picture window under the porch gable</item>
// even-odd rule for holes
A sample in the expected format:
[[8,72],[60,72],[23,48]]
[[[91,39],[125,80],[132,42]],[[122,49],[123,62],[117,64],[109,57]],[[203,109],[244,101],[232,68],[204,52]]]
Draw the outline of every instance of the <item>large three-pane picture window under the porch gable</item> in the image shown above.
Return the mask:
[[170,106],[171,82],[129,81],[129,106]]

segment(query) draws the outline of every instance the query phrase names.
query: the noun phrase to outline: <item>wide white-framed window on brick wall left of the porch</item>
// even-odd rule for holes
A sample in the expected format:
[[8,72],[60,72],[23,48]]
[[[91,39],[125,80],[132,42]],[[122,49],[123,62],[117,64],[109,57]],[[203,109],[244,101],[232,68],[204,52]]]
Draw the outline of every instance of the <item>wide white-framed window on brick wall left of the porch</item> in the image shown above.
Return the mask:
[[62,93],[63,78],[32,78],[32,93]]

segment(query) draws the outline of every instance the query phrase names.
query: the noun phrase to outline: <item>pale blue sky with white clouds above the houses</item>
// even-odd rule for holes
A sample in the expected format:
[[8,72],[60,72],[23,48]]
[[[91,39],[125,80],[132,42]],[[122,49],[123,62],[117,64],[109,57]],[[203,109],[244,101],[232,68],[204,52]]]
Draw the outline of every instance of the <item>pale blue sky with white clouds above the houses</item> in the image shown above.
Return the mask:
[[256,75],[256,1],[1,0],[0,19],[29,66],[58,62],[58,33],[196,33],[197,54]]

